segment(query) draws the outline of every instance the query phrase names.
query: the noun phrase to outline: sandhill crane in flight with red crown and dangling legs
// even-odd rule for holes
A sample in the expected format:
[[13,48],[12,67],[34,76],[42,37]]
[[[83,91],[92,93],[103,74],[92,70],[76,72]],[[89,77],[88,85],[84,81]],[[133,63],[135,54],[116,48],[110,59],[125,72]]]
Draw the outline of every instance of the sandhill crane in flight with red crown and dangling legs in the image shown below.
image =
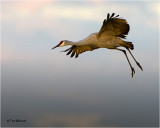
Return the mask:
[[87,38],[80,40],[78,42],[62,40],[57,46],[53,47],[52,49],[55,49],[56,47],[71,45],[70,48],[62,52],[67,52],[66,55],[71,54],[71,57],[75,55],[75,58],[77,58],[79,54],[83,52],[92,51],[98,48],[119,50],[125,54],[129,66],[131,68],[131,75],[133,77],[135,70],[128,59],[126,51],[117,48],[117,47],[126,48],[133,57],[136,64],[143,71],[142,66],[140,65],[139,62],[137,62],[137,60],[134,58],[134,56],[130,51],[130,49],[131,50],[134,49],[132,42],[122,40],[125,39],[126,35],[128,35],[129,28],[130,28],[129,24],[125,19],[120,18],[119,15],[115,16],[115,13],[112,13],[112,15],[108,13],[107,18],[104,19],[103,25],[99,30],[99,32],[93,33],[89,35]]

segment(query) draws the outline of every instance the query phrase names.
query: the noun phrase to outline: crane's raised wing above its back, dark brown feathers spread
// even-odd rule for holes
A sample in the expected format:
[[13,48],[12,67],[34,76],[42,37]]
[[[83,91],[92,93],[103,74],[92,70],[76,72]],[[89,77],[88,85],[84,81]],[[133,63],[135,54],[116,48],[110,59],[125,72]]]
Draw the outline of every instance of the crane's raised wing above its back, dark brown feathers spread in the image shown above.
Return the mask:
[[107,19],[103,21],[103,25],[100,31],[97,34],[97,37],[101,37],[103,35],[108,36],[117,36],[121,38],[125,38],[129,32],[129,24],[125,19],[119,18],[119,15],[114,16],[115,13],[108,13]]

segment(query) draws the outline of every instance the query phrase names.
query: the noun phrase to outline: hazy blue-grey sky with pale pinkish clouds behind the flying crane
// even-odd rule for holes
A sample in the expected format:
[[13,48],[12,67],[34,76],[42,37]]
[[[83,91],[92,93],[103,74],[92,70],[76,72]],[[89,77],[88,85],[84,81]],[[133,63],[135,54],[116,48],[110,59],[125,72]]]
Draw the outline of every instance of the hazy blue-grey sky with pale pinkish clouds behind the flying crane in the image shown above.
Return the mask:
[[[3,126],[158,126],[158,1],[2,1]],[[99,31],[107,13],[130,24],[140,62],[98,49],[77,59],[51,48]],[[7,122],[24,119],[26,123]]]

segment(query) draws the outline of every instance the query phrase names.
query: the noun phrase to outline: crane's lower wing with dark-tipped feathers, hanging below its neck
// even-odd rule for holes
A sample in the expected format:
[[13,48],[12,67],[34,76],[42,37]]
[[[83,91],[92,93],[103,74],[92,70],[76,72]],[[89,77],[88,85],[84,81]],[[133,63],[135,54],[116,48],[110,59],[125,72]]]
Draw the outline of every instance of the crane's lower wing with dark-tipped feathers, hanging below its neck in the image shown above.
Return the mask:
[[72,47],[70,47],[62,52],[67,52],[66,55],[71,54],[71,57],[73,57],[75,55],[75,58],[77,58],[79,56],[79,54],[86,52],[86,51],[92,51],[94,49],[97,49],[97,47],[87,46],[87,45],[83,45],[83,46],[73,45]]

